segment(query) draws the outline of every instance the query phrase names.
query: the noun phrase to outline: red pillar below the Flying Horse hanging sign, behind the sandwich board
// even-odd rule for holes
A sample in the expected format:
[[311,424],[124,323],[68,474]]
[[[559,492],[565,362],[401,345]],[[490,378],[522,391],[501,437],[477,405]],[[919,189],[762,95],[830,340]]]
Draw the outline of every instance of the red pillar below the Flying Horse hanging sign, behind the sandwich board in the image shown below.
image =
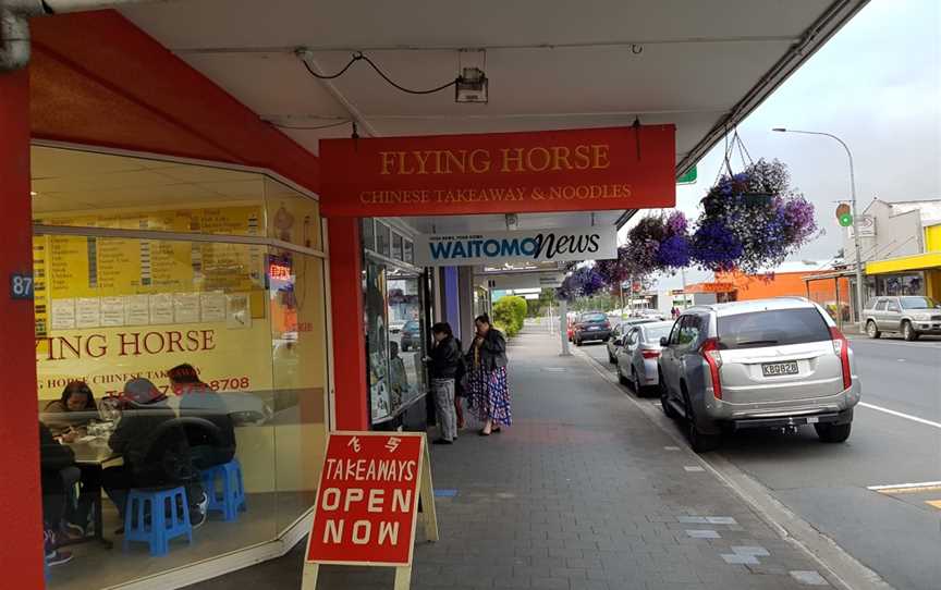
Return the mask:
[[337,428],[368,430],[366,336],[363,325],[363,250],[358,218],[329,218],[330,315]]

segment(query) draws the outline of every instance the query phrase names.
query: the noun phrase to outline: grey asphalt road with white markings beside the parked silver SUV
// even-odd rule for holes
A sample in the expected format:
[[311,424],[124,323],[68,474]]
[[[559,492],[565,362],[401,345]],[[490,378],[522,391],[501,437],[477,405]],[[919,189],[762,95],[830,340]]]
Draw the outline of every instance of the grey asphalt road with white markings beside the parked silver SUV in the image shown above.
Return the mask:
[[[941,340],[860,336],[852,347],[863,405],[846,443],[820,443],[809,427],[745,431],[726,437],[718,453],[897,590],[937,589]],[[582,351],[613,371],[603,344]]]

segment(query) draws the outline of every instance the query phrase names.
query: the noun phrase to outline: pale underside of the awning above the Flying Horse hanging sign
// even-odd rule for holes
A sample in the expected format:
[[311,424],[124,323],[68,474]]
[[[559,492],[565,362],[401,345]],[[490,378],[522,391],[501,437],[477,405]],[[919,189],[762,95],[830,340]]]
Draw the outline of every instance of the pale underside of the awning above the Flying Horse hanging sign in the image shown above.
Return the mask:
[[[127,17],[311,152],[321,137],[677,126],[688,168],[867,0],[187,0],[122,9]],[[481,66],[488,105],[453,90],[403,94],[363,62],[313,78],[363,51],[395,82],[428,88],[459,61]],[[460,52],[485,49],[484,54]],[[620,216],[614,216],[616,219]]]

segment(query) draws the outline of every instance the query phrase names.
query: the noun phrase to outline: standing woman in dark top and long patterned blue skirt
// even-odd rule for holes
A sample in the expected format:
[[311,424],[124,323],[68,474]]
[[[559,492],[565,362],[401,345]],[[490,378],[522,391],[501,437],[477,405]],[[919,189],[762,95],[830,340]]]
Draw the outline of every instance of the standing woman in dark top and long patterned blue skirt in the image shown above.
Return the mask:
[[487,314],[474,320],[477,334],[467,352],[468,393],[477,418],[484,422],[481,437],[510,426],[510,386],[506,382],[506,339],[490,325]]

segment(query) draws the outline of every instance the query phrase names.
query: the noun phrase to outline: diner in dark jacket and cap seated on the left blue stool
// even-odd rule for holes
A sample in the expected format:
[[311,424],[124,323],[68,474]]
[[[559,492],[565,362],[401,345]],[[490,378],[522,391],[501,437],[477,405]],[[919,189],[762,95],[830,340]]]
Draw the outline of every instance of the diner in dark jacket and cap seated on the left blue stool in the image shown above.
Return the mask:
[[105,491],[121,517],[132,488],[185,485],[193,527],[206,519],[208,504],[193,467],[183,422],[167,405],[167,396],[147,379],[132,379],[122,395],[125,409],[108,440],[124,465],[102,474]]

